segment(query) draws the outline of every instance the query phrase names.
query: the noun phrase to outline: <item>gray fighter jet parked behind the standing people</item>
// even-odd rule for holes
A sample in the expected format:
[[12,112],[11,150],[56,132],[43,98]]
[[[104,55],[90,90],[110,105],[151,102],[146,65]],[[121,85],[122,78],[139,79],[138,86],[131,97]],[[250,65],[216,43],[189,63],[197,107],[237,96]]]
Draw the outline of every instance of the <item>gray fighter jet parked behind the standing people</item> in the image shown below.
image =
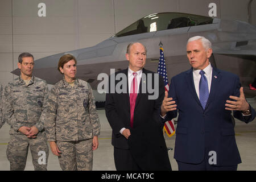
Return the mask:
[[[64,54],[77,58],[77,77],[97,89],[97,76],[127,68],[125,53],[130,42],[141,42],[147,47],[146,69],[157,72],[159,43],[162,42],[168,78],[190,68],[187,40],[192,36],[205,36],[212,42],[211,63],[219,69],[240,76],[246,88],[256,77],[256,26],[238,20],[223,20],[185,13],[156,13],[147,15],[109,39],[93,47],[77,49],[35,60],[35,76],[49,84],[61,79],[57,63]],[[19,75],[19,70],[12,73]],[[246,91],[246,90],[245,90]],[[248,89],[247,96],[255,91]]]

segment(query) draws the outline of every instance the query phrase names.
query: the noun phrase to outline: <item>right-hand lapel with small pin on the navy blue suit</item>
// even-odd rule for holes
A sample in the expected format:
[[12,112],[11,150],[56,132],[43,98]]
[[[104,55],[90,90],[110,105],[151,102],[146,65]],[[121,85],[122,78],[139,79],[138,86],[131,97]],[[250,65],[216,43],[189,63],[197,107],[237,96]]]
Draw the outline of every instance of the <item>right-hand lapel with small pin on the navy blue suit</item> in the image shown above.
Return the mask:
[[220,71],[217,68],[212,68],[212,82],[210,84],[210,93],[207,101],[207,105],[205,106],[205,110],[209,106],[210,102],[214,101],[216,93],[218,92],[218,86],[221,80]]

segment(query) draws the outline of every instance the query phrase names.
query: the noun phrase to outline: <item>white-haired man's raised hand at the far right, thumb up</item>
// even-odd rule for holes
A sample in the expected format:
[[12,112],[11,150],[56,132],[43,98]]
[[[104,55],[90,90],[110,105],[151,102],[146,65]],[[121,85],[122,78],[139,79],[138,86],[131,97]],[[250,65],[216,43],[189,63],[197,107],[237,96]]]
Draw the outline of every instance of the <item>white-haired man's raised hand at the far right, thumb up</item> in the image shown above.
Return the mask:
[[228,104],[225,104],[226,110],[240,110],[240,111],[246,111],[250,109],[249,104],[245,100],[245,94],[243,94],[243,88],[240,88],[240,97],[235,96],[229,96],[229,98],[236,100],[236,101],[230,101],[227,100],[226,102]]

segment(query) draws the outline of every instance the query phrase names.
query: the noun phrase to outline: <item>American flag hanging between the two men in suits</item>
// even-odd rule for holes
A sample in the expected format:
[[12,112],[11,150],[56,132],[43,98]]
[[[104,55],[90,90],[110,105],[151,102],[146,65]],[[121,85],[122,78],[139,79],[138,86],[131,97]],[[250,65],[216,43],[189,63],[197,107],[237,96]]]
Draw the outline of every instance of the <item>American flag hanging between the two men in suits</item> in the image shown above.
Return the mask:
[[[163,79],[164,79],[164,88],[168,92],[169,91],[169,83],[168,83],[168,77],[167,77],[167,71],[166,71],[166,60],[164,60],[164,54],[163,54],[163,48],[162,47],[160,47],[158,73],[159,73],[159,75],[161,75],[163,77]],[[164,131],[166,131],[168,137],[172,137],[172,135],[175,134],[174,119],[164,123]]]

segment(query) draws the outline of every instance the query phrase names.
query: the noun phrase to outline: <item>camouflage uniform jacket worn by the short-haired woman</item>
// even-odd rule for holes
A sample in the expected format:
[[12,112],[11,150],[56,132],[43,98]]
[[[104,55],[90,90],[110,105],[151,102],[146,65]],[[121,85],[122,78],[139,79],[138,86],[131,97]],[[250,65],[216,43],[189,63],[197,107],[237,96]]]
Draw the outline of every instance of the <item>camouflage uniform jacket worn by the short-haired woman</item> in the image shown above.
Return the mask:
[[48,109],[44,113],[47,140],[77,141],[100,135],[100,120],[92,88],[88,82],[76,79],[72,87],[64,79],[49,93]]

